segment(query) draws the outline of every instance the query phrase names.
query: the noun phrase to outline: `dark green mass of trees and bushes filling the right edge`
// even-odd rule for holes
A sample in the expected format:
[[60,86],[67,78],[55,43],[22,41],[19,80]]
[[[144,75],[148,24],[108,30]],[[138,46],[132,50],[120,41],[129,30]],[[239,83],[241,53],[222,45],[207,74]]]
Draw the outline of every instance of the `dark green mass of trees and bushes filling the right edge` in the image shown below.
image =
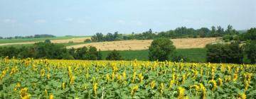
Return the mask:
[[238,35],[230,44],[206,45],[207,62],[215,63],[256,63],[256,28]]

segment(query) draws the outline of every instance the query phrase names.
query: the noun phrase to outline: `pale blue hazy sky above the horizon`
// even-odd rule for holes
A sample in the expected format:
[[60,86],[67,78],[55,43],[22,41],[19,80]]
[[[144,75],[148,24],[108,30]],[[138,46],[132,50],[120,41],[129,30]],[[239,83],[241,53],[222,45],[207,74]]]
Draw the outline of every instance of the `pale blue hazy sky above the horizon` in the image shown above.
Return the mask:
[[256,27],[255,0],[0,0],[0,36]]

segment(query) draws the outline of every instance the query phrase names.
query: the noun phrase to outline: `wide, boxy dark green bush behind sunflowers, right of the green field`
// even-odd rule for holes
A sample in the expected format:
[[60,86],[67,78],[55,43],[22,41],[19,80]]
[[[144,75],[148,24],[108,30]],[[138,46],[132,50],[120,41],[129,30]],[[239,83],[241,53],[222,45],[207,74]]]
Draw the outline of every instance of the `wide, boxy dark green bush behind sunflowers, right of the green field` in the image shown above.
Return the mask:
[[242,63],[242,48],[238,42],[231,44],[206,45],[207,62],[215,63]]

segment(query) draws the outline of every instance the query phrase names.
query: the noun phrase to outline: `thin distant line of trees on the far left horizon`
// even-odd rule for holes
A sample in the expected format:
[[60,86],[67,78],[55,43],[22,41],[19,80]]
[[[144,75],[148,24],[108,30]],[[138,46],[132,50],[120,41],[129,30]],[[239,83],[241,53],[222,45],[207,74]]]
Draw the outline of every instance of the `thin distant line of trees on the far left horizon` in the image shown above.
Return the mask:
[[45,37],[56,37],[55,35],[30,35],[30,36],[15,36],[15,37],[0,37],[0,39],[26,39],[26,38],[45,38]]

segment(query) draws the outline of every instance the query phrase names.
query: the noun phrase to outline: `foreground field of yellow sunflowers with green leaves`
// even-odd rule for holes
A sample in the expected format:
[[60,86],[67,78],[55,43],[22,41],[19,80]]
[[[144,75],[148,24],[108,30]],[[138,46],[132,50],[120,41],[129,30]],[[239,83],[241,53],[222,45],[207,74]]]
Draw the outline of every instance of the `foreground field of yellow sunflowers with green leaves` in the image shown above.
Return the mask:
[[0,98],[256,98],[250,64],[0,60]]

